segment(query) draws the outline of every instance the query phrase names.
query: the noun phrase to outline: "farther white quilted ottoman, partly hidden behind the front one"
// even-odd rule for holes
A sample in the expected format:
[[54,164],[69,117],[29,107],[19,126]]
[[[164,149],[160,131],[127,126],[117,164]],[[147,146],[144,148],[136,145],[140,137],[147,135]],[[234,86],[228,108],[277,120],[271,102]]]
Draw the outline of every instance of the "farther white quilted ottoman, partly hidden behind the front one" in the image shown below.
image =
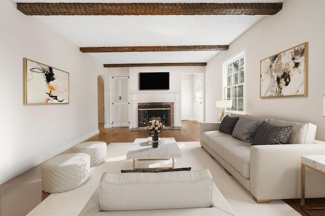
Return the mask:
[[74,152],[90,155],[90,166],[99,165],[106,160],[107,144],[101,141],[90,141],[75,145]]

